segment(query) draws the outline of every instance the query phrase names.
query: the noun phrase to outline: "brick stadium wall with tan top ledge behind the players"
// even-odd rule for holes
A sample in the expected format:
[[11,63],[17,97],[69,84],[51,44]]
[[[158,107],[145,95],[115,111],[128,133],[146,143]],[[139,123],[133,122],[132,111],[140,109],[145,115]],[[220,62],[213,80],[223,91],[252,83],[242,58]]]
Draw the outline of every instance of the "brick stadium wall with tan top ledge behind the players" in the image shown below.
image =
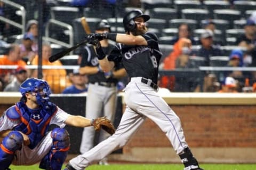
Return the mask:
[[[19,93],[0,93],[0,113],[19,98]],[[186,141],[200,162],[256,163],[255,93],[171,93],[163,98],[180,117]],[[81,115],[84,112],[86,94],[53,94],[51,99],[67,112],[73,111],[72,114]],[[122,103],[119,103],[116,126],[124,104],[121,107]],[[76,112],[74,108],[80,111]],[[67,128],[73,139],[70,153],[79,153],[82,129]],[[111,154],[109,160],[180,162],[165,134],[149,119],[123,150]]]

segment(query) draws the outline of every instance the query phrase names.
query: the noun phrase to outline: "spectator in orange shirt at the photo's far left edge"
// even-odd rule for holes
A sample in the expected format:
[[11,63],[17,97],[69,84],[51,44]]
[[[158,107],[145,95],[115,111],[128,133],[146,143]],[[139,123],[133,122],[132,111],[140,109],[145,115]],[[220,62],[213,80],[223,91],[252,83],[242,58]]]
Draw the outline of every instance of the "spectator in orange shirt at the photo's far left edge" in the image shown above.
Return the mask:
[[[0,65],[26,66],[26,62],[20,59],[20,46],[12,44],[7,55],[0,58]],[[0,79],[4,88],[11,79],[12,69],[0,69]]]

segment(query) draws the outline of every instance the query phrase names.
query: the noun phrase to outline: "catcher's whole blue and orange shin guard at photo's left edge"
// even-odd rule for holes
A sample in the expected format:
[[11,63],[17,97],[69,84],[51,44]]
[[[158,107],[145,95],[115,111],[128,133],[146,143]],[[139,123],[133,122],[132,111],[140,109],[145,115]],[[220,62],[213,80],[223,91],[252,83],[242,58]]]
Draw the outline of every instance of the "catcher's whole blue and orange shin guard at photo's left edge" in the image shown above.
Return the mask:
[[4,137],[0,145],[0,170],[9,169],[14,152],[21,149],[22,143],[23,136],[17,131],[12,131]]

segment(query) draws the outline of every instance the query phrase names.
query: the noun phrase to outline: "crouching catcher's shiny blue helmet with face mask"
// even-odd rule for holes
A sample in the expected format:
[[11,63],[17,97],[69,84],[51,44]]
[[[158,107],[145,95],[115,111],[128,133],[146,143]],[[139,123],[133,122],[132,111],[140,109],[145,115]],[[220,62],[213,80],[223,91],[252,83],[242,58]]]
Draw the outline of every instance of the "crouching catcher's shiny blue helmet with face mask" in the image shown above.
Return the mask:
[[28,92],[34,92],[38,104],[45,104],[50,98],[50,86],[45,80],[29,78],[20,85],[20,93],[25,96]]

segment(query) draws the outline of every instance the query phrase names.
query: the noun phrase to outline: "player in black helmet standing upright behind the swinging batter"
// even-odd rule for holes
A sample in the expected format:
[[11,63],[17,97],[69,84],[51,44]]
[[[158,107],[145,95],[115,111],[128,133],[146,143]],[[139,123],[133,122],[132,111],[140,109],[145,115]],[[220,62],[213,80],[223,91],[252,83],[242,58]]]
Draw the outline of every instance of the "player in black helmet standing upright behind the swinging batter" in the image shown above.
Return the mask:
[[[110,25],[107,20],[101,20],[97,23],[95,33],[102,34],[110,31]],[[114,45],[109,44],[107,39],[101,42],[103,51],[109,54]],[[106,116],[114,122],[116,102],[117,102],[117,82],[119,78],[126,76],[126,71],[121,64],[115,69],[106,73],[99,66],[99,60],[92,45],[85,46],[82,53],[82,62],[79,72],[86,74],[89,78],[89,86],[86,98],[86,117],[94,119],[99,116]],[[94,146],[95,131],[92,127],[84,128],[80,152],[84,153]],[[109,137],[105,131],[99,135],[99,143]],[[100,164],[107,164],[106,158],[100,161]]]

